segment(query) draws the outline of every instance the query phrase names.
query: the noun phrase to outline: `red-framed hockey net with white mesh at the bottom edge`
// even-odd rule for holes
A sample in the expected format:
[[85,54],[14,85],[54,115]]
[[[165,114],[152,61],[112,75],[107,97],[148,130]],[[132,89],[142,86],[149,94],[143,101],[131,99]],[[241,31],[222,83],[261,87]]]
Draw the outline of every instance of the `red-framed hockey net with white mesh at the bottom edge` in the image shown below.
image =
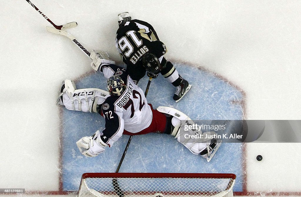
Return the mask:
[[85,173],[78,197],[233,197],[235,174]]

